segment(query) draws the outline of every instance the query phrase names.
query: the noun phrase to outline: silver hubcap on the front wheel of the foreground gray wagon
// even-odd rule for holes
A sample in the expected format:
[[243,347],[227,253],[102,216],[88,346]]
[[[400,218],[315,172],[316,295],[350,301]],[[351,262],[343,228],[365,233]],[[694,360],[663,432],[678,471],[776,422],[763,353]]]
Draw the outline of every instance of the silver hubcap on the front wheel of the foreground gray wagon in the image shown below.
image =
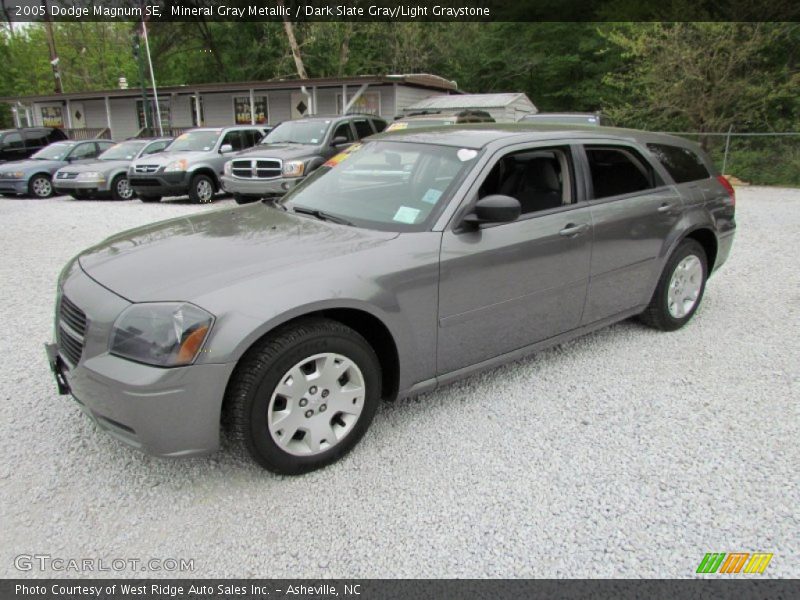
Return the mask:
[[320,454],[341,442],[364,409],[364,376],[341,354],[301,360],[281,377],[267,409],[273,441],[295,456]]

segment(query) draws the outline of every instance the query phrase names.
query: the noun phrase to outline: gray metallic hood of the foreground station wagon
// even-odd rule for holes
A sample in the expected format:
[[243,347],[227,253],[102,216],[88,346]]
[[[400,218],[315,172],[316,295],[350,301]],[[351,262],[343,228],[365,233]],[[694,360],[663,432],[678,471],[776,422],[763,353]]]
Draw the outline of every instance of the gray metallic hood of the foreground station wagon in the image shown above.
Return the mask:
[[132,301],[183,300],[288,267],[374,247],[398,234],[335,225],[261,202],[170,219],[112,236],[80,255],[92,279]]

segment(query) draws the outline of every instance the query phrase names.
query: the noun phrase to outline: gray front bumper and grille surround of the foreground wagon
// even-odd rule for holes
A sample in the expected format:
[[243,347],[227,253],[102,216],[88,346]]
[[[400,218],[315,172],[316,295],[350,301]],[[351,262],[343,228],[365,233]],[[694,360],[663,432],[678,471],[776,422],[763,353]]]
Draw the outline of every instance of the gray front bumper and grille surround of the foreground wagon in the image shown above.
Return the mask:
[[111,327],[128,302],[78,270],[63,294],[86,313],[84,348],[71,366],[54,344],[48,362],[61,393],[118,440],[156,456],[194,456],[219,447],[220,410],[233,364],[165,369],[108,352]]

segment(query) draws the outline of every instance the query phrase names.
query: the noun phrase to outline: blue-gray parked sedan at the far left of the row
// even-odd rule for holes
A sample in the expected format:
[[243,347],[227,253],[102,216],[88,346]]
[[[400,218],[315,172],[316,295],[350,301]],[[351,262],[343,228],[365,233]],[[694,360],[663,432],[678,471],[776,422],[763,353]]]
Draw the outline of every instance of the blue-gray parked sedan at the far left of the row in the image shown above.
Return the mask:
[[55,142],[26,160],[0,165],[0,194],[53,195],[53,173],[70,163],[90,160],[114,145],[111,140]]

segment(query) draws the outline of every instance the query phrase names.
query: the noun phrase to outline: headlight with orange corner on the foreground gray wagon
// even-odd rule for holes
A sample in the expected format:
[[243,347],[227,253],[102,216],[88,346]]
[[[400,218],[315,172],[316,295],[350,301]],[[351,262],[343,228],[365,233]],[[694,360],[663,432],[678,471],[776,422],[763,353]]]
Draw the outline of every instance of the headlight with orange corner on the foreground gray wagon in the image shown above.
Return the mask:
[[111,331],[111,354],[157,367],[194,362],[214,316],[186,302],[133,304]]

